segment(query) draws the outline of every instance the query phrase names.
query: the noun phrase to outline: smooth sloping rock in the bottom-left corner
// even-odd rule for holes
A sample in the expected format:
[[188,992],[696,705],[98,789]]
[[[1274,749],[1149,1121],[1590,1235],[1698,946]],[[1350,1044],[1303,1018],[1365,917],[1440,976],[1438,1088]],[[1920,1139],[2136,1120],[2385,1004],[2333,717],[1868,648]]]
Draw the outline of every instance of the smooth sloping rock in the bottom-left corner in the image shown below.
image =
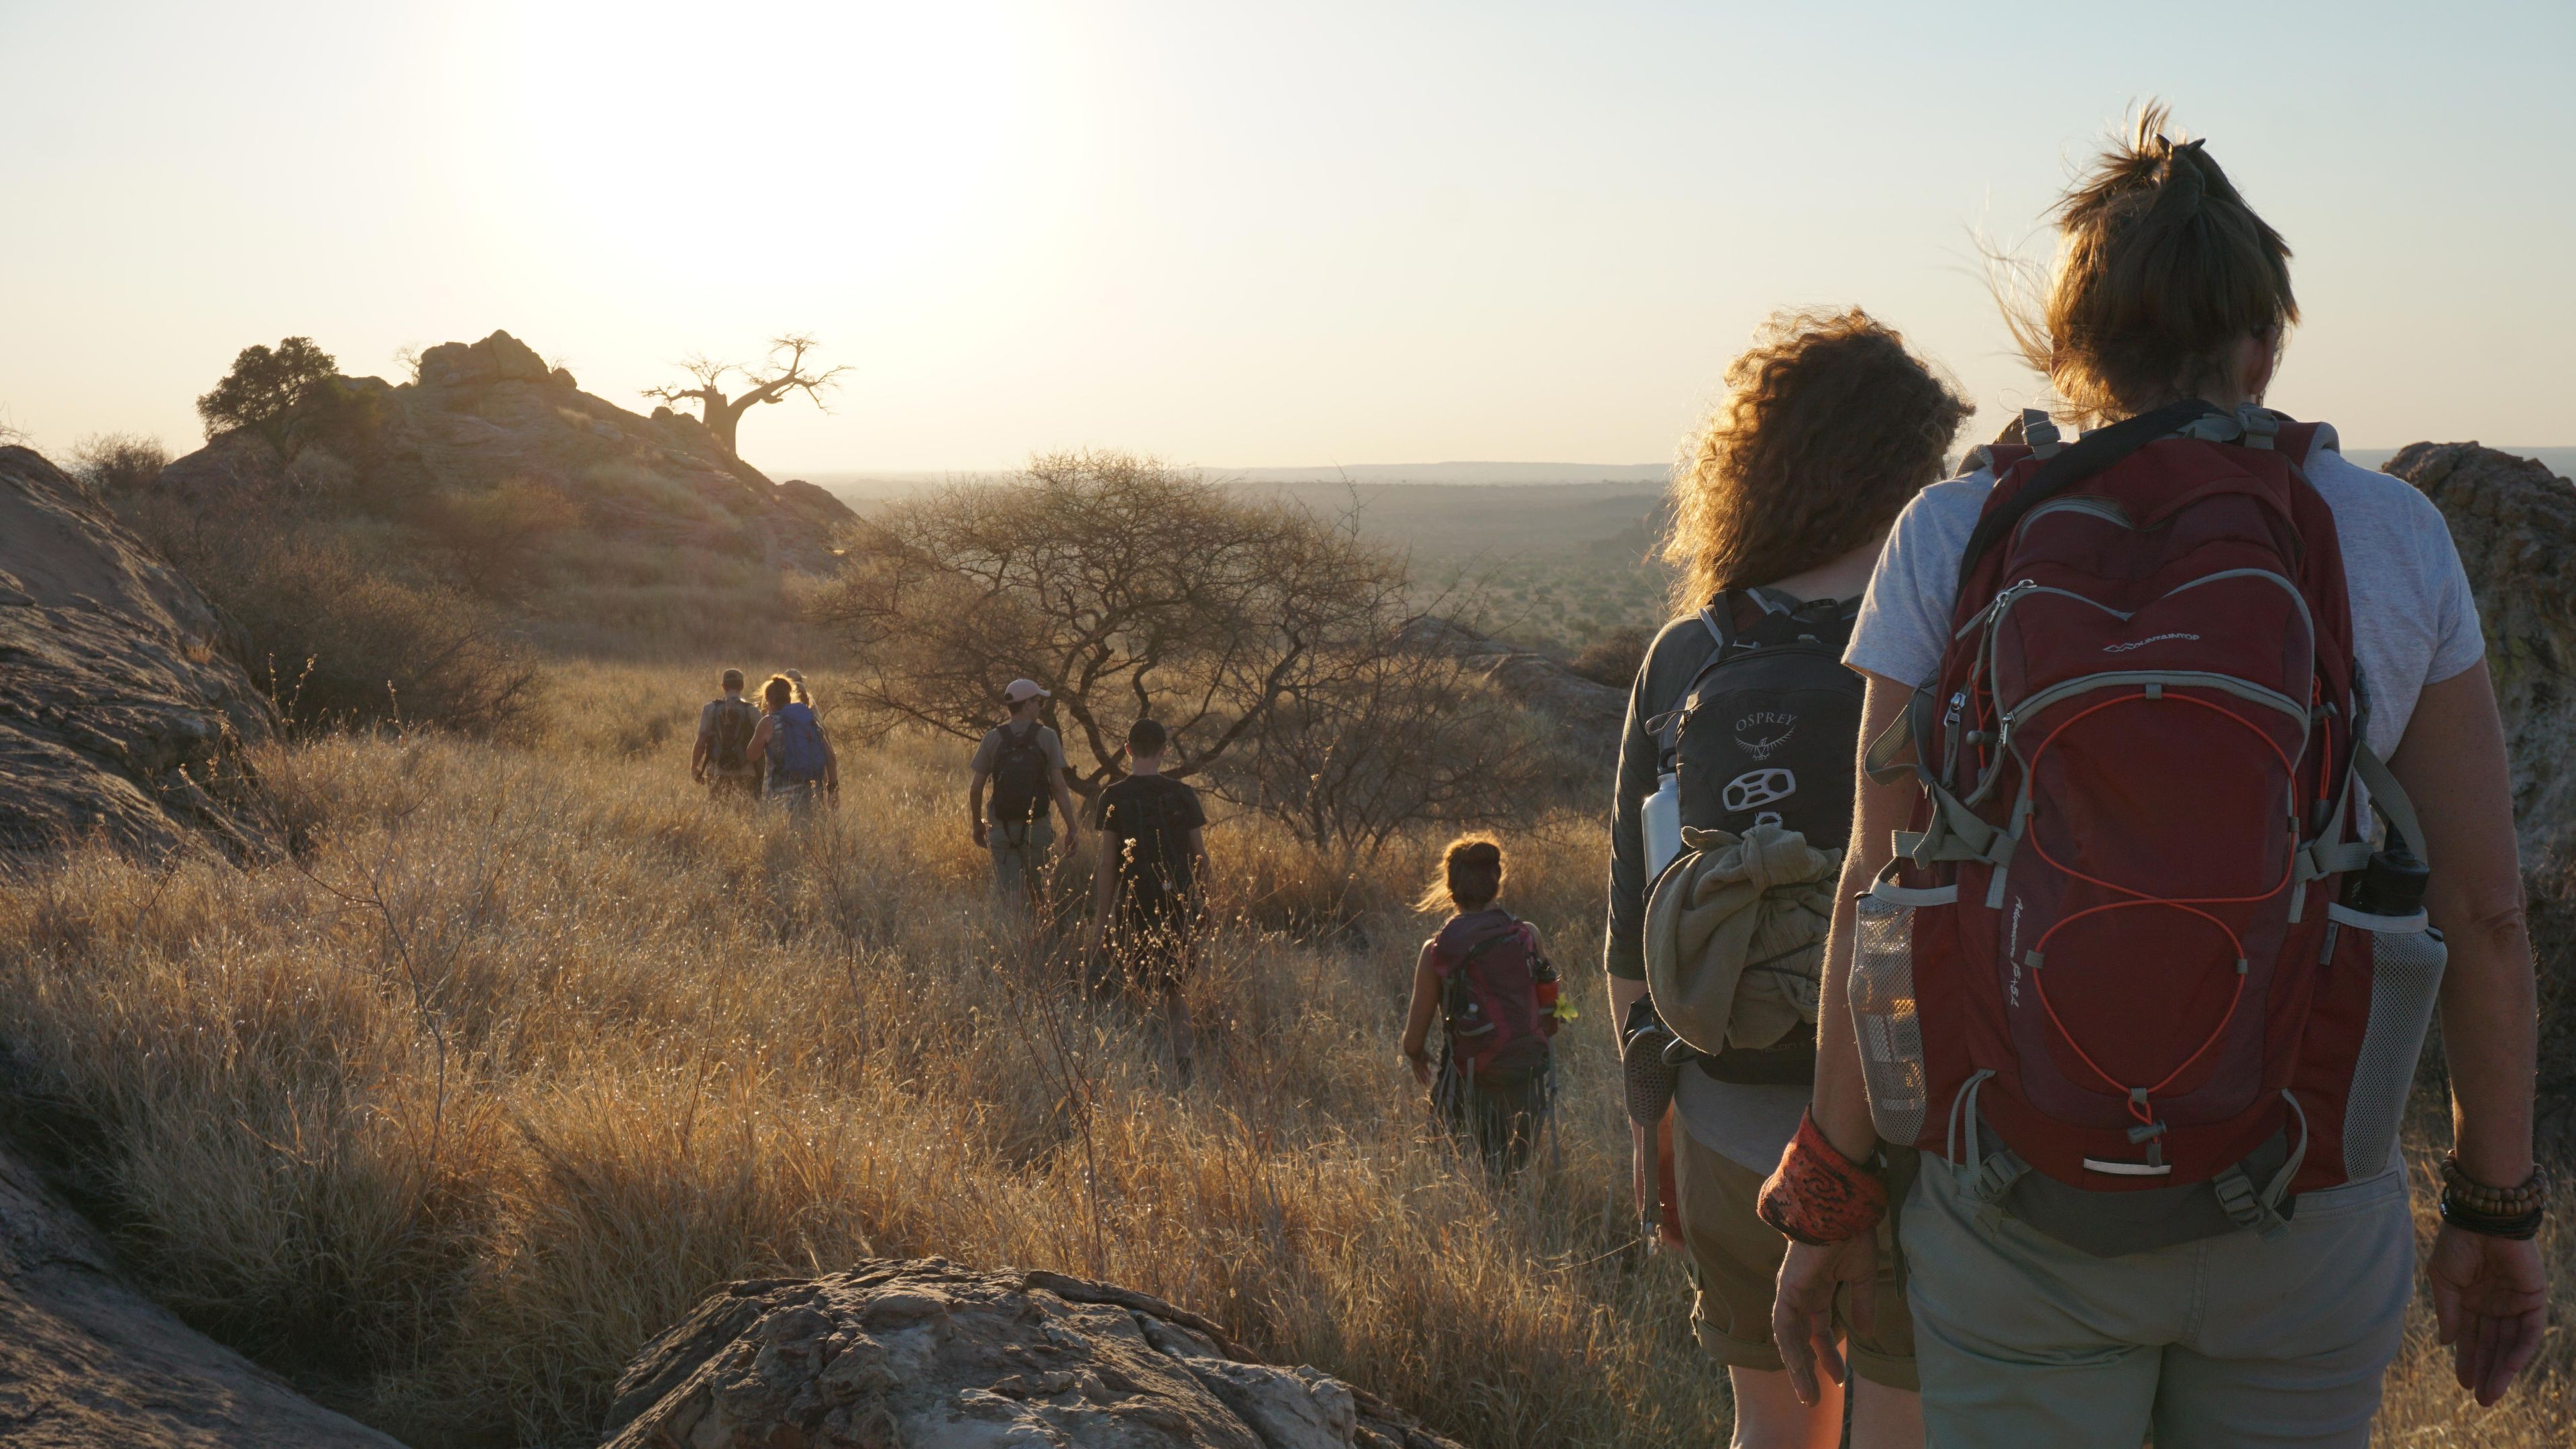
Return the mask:
[[191,1330],[0,1152],[0,1441],[13,1449],[402,1449]]

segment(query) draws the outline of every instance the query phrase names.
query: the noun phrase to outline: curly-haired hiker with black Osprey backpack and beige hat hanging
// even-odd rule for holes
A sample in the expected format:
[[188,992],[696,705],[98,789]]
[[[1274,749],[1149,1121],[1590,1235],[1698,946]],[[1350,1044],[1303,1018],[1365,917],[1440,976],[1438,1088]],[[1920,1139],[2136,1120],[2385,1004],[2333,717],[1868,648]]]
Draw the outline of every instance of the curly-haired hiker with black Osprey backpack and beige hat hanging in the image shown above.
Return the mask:
[[[1628,699],[1605,967],[1633,1186],[1651,1230],[1690,1253],[1692,1330],[1731,1379],[1734,1444],[1837,1444],[1839,1387],[1801,1405],[1772,1341],[1788,1240],[1754,1194],[1816,1062],[1860,732],[1842,642],[1968,405],[1860,309],[1772,317],[1726,384],[1674,477],[1677,619]],[[1875,1248],[1857,1271],[1888,1292],[1829,1325],[1860,1379],[1860,1449],[1922,1434],[1901,1263],[1893,1238]]]

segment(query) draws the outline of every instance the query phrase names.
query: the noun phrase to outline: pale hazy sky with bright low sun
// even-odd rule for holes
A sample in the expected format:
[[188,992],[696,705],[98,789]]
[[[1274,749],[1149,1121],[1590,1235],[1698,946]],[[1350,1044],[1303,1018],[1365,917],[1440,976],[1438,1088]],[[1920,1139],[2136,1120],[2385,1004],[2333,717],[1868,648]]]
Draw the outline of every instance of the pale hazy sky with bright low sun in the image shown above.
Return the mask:
[[1860,302],[1994,428],[1973,237],[2174,103],[2298,250],[2272,400],[2576,443],[2576,5],[0,0],[0,423],[507,327],[641,407],[811,330],[773,474],[1654,462]]

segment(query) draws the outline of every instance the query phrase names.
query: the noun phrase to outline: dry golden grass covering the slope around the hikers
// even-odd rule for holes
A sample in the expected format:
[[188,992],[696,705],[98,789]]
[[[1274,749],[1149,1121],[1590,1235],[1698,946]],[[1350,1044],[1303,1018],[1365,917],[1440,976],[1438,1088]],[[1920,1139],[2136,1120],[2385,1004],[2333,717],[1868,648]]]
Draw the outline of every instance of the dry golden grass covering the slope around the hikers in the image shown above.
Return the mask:
[[[1473,1444],[1721,1441],[1680,1271],[1625,1250],[1597,825],[1515,835],[1587,1016],[1497,1191],[1394,1057],[1432,841],[1345,879],[1221,820],[1180,1091],[987,902],[958,743],[848,748],[796,833],[685,786],[698,673],[562,670],[523,745],[270,753],[296,864],[0,890],[0,1039],[157,1294],[417,1444],[587,1444],[711,1284],[860,1256],[1133,1284]],[[2576,1431],[2563,1336],[2491,1415],[2432,1364],[2411,1341],[2391,1441]]]

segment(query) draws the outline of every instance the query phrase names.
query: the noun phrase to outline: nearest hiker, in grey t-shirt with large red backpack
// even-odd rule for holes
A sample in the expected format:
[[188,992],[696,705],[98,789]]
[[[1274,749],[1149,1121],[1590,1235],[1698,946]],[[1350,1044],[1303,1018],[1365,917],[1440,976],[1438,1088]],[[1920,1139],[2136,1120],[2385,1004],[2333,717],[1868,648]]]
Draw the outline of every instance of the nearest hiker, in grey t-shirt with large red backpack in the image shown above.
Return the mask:
[[[1801,1392],[1868,1292],[1883,1145],[1929,1441],[2367,1444],[2429,1274],[2478,1403],[2545,1320],[2504,735],[2439,511],[2267,413],[2287,245],[2164,111],[2017,320],[2071,415],[1924,490],[1844,660],[1865,753],[1814,1109],[1762,1189]],[[1850,1016],[1844,1016],[1844,1011]]]

